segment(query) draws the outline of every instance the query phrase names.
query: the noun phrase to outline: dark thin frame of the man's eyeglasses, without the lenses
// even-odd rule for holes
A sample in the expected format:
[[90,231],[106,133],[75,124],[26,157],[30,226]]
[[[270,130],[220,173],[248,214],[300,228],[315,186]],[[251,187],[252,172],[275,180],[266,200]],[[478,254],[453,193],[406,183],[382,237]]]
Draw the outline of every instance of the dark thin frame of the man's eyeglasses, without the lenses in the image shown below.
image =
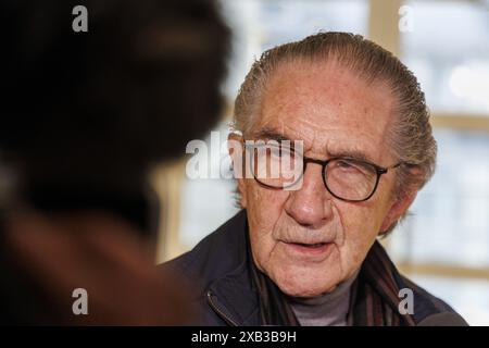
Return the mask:
[[[263,146],[268,146],[268,145],[263,145]],[[246,144],[246,142],[244,142],[244,149],[246,149],[246,148],[253,148],[253,149],[256,149],[258,146],[256,146],[256,145],[249,145],[249,144]],[[244,150],[244,149],[243,149],[243,150]],[[296,152],[296,150],[293,150],[293,149],[290,149],[290,151],[291,151],[291,152]],[[346,198],[342,198],[342,197],[337,196],[335,192],[331,191],[331,189],[328,187],[328,185],[327,185],[327,183],[326,183],[326,169],[327,169],[327,165],[328,165],[330,162],[336,161],[336,160],[350,160],[350,161],[355,161],[355,162],[359,162],[359,163],[367,164],[367,165],[371,165],[372,167],[374,167],[375,173],[376,173],[377,176],[376,176],[376,179],[375,179],[374,188],[372,189],[372,192],[371,192],[366,198],[364,198],[364,199],[346,199]],[[387,173],[389,172],[389,170],[397,169],[397,167],[401,166],[402,164],[406,164],[405,162],[402,162],[402,161],[401,161],[401,162],[398,162],[398,163],[396,163],[396,164],[393,164],[393,165],[390,165],[390,166],[380,166],[380,165],[377,165],[377,164],[375,164],[375,163],[372,163],[372,162],[368,162],[368,161],[365,161],[365,160],[360,160],[360,159],[356,159],[356,158],[344,157],[344,156],[343,156],[343,157],[333,157],[333,158],[327,159],[327,160],[325,160],[325,161],[318,160],[318,159],[312,159],[312,158],[302,156],[302,162],[303,162],[303,163],[302,163],[302,174],[301,174],[301,176],[300,176],[296,182],[293,182],[293,183],[290,184],[290,185],[287,185],[287,186],[284,186],[284,187],[275,187],[275,186],[266,185],[266,184],[262,183],[262,182],[256,177],[256,174],[254,173],[254,171],[252,171],[253,178],[256,181],[256,183],[259,183],[260,185],[265,186],[265,187],[267,187],[267,188],[272,188],[272,189],[285,189],[285,188],[290,187],[290,186],[293,186],[293,185],[296,185],[296,184],[298,183],[298,181],[305,174],[305,170],[306,170],[308,163],[314,163],[314,164],[318,164],[318,165],[322,166],[322,172],[321,172],[322,174],[321,174],[321,176],[323,177],[323,184],[324,184],[326,190],[327,190],[333,197],[335,197],[335,198],[337,198],[337,199],[340,199],[340,200],[342,200],[342,201],[346,201],[346,202],[364,202],[364,201],[371,199],[372,196],[374,196],[374,194],[376,192],[377,187],[378,187],[378,183],[380,182],[381,175],[387,174]]]

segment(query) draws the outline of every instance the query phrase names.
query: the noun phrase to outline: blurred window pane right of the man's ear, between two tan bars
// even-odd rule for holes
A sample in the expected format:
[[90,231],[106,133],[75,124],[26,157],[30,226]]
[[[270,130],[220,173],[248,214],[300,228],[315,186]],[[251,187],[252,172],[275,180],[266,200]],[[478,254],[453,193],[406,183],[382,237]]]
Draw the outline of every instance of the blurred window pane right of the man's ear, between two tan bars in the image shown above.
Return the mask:
[[489,134],[437,129],[431,182],[392,235],[399,261],[489,268]]

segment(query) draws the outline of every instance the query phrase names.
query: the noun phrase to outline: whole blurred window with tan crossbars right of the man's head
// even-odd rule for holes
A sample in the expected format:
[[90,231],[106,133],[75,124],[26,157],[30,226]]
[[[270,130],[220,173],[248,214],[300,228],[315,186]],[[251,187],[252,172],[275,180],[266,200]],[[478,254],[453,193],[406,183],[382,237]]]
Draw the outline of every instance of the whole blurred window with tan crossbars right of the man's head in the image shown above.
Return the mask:
[[387,244],[473,325],[489,324],[489,2],[405,1],[401,60],[432,114],[437,172]]

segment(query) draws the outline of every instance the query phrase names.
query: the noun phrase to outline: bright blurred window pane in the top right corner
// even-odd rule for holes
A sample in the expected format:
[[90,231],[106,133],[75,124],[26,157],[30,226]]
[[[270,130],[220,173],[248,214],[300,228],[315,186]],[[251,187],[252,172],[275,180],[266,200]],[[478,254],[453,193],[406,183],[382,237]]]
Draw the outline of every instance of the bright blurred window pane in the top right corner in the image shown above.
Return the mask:
[[401,57],[431,110],[489,116],[489,2],[405,1]]

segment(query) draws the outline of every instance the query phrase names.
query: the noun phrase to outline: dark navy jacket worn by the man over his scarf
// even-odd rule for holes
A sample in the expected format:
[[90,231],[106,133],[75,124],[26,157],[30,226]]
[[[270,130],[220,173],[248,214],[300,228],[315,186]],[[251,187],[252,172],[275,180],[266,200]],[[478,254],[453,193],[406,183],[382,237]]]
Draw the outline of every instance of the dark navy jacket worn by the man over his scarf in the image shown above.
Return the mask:
[[[163,264],[192,282],[191,300],[200,310],[193,324],[260,325],[259,299],[248,270],[247,233],[247,214],[242,210],[191,251]],[[465,323],[447,303],[405,277],[396,282],[400,288],[414,290],[416,324]]]

